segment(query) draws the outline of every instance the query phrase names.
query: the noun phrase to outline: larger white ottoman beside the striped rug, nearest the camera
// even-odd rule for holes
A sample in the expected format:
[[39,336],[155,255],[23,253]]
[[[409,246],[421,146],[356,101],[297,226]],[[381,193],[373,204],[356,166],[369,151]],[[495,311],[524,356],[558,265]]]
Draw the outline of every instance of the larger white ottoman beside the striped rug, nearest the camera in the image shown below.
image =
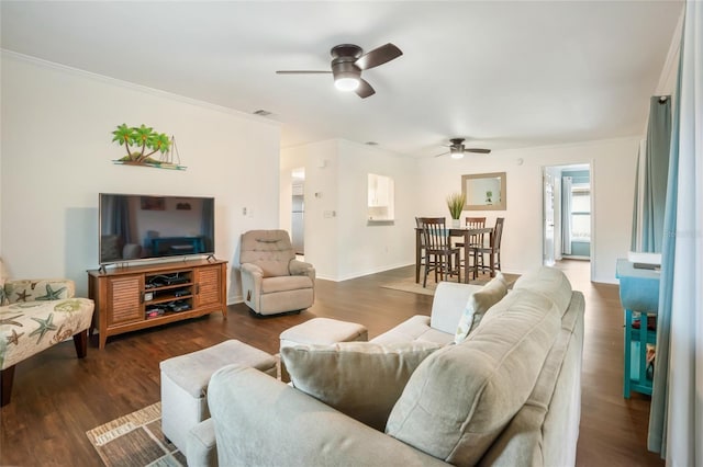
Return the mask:
[[190,429],[210,418],[207,399],[210,377],[232,363],[250,366],[276,377],[274,356],[236,340],[160,363],[161,431],[186,456]]

